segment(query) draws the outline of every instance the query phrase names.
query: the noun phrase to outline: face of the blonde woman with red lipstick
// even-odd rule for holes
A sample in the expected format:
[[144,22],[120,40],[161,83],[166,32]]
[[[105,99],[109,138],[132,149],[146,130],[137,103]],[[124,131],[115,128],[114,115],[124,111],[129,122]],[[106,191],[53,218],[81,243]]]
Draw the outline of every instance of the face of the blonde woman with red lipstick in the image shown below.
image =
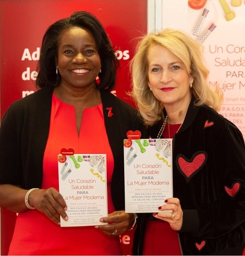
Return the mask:
[[166,47],[154,44],[148,51],[148,83],[156,99],[164,107],[189,106],[191,90],[189,84],[193,78],[189,76],[184,63]]

